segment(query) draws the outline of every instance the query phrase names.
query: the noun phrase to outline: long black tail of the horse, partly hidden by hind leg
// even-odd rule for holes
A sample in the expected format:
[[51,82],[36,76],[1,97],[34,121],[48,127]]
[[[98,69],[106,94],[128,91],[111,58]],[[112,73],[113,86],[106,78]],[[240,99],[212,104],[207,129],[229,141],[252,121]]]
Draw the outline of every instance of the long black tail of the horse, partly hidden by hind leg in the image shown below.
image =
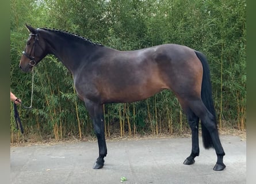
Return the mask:
[[[210,76],[210,70],[209,70],[207,58],[201,52],[198,52],[198,51],[195,51],[195,52],[196,52],[198,59],[200,59],[200,61],[202,63],[202,70],[203,70],[202,89],[201,89],[202,102],[204,102],[204,105],[206,106],[206,108],[213,115],[214,122],[217,126],[216,113],[215,113],[215,108],[214,108],[213,99],[212,99],[211,76]],[[202,143],[204,144],[204,147],[206,149],[209,149],[209,148],[213,147],[211,136],[210,136],[207,128],[205,128],[204,124],[201,123],[201,127],[202,127]]]

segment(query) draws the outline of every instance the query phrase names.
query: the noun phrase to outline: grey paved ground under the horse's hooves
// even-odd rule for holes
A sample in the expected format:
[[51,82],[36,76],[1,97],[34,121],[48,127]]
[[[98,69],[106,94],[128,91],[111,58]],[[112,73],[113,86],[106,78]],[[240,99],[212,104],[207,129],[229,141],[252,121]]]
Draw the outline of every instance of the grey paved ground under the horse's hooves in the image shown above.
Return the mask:
[[[213,171],[214,150],[200,147],[200,156],[191,166],[183,164],[190,154],[190,138],[121,140],[107,142],[105,166],[94,170],[97,143],[59,143],[10,148],[12,184],[80,183],[246,183],[246,141],[221,136],[226,152],[226,169]],[[200,145],[202,142],[200,140]]]

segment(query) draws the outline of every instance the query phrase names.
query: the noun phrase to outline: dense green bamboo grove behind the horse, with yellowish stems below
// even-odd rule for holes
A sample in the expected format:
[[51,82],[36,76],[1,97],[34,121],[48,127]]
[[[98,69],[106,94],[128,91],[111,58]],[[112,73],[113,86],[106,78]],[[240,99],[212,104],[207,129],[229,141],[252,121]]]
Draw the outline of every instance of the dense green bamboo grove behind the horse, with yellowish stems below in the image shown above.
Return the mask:
[[[68,30],[119,50],[175,43],[203,52],[211,67],[219,128],[246,128],[245,0],[11,0],[10,90],[29,105],[32,74],[18,68],[28,38],[25,23]],[[10,103],[12,142],[36,137],[61,140],[93,136],[72,75],[47,56],[35,68],[33,109],[18,107],[24,136]],[[106,136],[182,133],[186,117],[171,91],[144,101],[104,105]]]

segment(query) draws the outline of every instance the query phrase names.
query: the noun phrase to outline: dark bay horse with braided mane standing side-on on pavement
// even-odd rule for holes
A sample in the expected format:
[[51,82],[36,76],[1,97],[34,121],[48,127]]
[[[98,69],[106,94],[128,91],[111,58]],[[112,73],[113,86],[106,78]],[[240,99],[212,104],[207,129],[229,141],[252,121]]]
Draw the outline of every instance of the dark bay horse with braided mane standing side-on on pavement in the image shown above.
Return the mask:
[[118,51],[61,30],[26,27],[30,34],[20,68],[29,72],[46,55],[52,54],[72,73],[75,89],[85,102],[98,139],[99,156],[93,168],[102,168],[107,154],[103,104],[140,101],[164,89],[176,95],[192,129],[192,152],[184,164],[193,164],[199,155],[200,119],[204,147],[213,147],[216,151],[213,170],[226,167],[217,131],[209,67],[201,52],[176,44]]

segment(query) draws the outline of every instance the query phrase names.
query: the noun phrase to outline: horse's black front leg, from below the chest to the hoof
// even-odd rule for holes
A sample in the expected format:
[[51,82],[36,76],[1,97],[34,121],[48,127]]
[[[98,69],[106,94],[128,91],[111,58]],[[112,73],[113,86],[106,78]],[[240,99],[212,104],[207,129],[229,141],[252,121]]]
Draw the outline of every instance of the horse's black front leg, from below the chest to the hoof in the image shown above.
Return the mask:
[[104,157],[107,154],[106,140],[104,133],[104,113],[103,105],[95,104],[92,101],[85,101],[86,108],[90,114],[91,119],[93,120],[94,132],[98,140],[99,156],[95,162],[93,168],[98,169],[104,166]]

